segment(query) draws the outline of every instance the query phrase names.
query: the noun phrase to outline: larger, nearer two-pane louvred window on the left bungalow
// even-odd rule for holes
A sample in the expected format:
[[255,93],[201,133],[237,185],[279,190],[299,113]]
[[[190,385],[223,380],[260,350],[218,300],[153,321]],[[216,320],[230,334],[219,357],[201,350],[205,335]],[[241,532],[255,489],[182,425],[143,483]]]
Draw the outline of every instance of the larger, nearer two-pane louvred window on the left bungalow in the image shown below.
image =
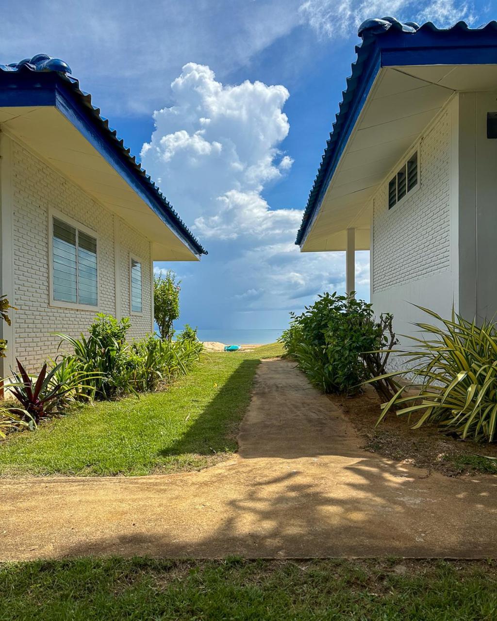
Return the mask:
[[97,306],[97,240],[57,217],[52,219],[52,297]]

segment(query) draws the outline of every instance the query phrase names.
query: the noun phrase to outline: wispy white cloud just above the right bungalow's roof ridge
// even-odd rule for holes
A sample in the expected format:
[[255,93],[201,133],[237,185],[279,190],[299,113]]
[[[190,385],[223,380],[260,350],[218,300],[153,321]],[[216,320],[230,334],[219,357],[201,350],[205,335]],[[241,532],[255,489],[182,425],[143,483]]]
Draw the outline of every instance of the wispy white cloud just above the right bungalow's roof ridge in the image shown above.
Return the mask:
[[394,16],[400,20],[433,21],[439,27],[458,20],[474,21],[472,2],[457,0],[306,0],[299,13],[323,37],[349,37],[368,17]]

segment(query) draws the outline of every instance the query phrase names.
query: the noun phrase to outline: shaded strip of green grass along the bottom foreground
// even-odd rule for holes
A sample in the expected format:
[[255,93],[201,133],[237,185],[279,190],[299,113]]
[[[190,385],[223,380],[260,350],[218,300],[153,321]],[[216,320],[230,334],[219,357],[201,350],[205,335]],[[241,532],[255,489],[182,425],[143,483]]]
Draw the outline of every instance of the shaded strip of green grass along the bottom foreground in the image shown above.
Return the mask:
[[496,577],[495,561],[35,561],[0,566],[0,621],[485,621]]

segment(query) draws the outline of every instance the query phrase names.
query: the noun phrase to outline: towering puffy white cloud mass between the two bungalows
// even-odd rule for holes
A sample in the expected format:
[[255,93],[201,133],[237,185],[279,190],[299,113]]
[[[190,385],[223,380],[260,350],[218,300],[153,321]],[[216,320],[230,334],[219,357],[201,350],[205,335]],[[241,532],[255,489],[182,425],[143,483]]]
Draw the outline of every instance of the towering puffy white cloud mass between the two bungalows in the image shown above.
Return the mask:
[[200,265],[181,265],[185,320],[282,327],[288,311],[319,292],[343,290],[343,253],[300,253],[302,211],[273,209],[262,194],[293,164],[281,150],[290,130],[287,89],[222,84],[209,67],[188,63],[171,96],[173,104],[153,115],[142,161],[209,250]]

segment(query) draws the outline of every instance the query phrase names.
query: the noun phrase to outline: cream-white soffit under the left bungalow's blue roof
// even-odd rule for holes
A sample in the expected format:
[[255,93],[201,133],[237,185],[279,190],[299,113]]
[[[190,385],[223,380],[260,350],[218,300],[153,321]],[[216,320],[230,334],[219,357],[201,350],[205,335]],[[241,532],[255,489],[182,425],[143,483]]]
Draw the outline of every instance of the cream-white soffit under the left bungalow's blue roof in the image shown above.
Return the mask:
[[196,261],[173,232],[55,107],[0,108],[0,123],[42,160],[152,242],[155,261]]

